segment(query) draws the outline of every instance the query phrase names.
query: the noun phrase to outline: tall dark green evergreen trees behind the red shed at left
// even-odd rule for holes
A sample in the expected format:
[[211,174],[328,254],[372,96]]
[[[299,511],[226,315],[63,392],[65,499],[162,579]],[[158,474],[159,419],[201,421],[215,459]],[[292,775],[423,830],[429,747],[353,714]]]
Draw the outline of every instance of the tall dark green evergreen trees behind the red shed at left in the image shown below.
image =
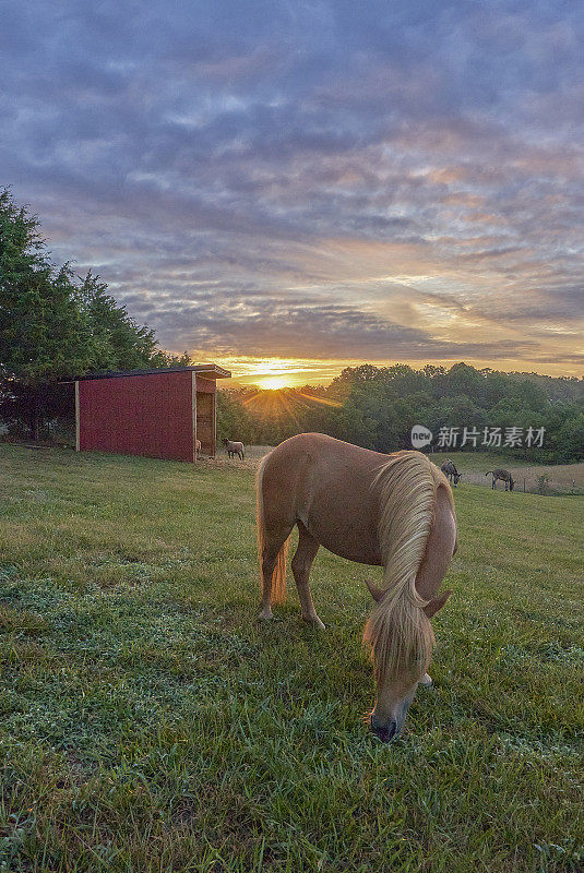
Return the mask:
[[158,348],[92,272],[56,267],[38,218],[0,191],[0,412],[38,439],[63,408],[59,381],[103,370],[190,363]]

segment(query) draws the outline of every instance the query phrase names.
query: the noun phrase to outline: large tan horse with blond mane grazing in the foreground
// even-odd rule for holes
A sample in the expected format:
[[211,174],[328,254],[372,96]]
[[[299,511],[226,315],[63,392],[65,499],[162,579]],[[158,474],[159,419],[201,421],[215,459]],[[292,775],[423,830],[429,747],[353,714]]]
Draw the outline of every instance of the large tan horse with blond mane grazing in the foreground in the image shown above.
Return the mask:
[[383,567],[363,641],[371,650],[377,701],[371,730],[396,737],[427,674],[431,617],[451,591],[438,588],[456,549],[456,518],[445,476],[420,452],[384,455],[322,433],[281,443],[258,471],[258,539],[262,619],[286,596],[288,537],[298,527],[291,562],[302,618],[324,627],[309,589],[320,546],[361,564]]

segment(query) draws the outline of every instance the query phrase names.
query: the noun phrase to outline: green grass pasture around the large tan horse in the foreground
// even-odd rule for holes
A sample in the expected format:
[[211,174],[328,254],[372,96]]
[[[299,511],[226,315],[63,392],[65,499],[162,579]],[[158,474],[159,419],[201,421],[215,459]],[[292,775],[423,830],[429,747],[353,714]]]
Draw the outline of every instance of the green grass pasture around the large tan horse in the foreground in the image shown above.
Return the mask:
[[260,625],[251,466],[0,446],[0,870],[584,870],[584,502],[457,489],[436,686],[383,745],[376,571],[321,551],[327,630],[294,590]]

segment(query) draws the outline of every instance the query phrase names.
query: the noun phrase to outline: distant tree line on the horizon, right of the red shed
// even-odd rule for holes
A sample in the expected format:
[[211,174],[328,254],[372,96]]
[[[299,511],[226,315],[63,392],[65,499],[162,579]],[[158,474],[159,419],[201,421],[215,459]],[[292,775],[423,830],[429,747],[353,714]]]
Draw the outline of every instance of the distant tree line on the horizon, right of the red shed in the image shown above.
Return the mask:
[[584,380],[575,378],[462,362],[448,370],[365,363],[346,368],[327,387],[224,390],[219,409],[226,435],[257,444],[318,431],[392,452],[412,449],[412,428],[421,424],[433,434],[429,449],[484,449],[547,463],[584,459]]

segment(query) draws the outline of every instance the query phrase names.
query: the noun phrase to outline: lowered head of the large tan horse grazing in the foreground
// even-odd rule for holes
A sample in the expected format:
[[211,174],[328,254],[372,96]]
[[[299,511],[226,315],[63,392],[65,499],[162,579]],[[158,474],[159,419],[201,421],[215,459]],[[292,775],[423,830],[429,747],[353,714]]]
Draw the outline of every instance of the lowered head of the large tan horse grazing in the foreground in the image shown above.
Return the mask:
[[[385,591],[369,582],[367,586],[373,599],[379,602]],[[413,607],[415,611],[407,618],[404,615],[406,621],[412,620],[416,625],[412,631],[412,645],[416,647],[418,657],[410,657],[412,650],[400,653],[403,637],[398,642],[392,638],[392,634],[385,635],[381,629],[379,635],[371,629],[368,642],[372,644],[377,698],[371,713],[370,728],[383,742],[396,739],[402,731],[418,684],[424,681],[429,667],[433,634],[428,619],[444,606],[451,594],[452,591],[444,591],[424,607]],[[396,636],[401,636],[398,626],[394,631]]]

